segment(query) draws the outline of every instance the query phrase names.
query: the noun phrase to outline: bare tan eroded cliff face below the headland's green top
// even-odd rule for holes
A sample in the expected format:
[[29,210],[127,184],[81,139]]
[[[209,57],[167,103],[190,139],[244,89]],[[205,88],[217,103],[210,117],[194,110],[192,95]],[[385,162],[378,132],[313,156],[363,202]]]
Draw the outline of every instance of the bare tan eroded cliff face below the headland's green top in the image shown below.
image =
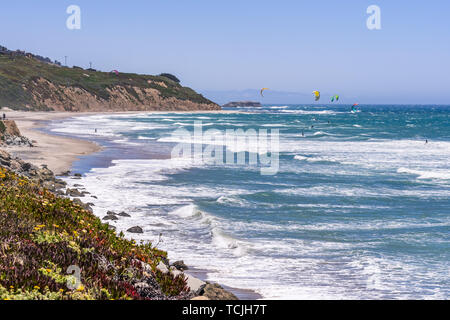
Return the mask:
[[[53,111],[200,111],[220,110],[214,103],[197,103],[174,97],[163,97],[153,88],[113,86],[108,97],[100,97],[80,87],[54,85],[38,78],[24,88],[35,105]],[[26,105],[28,109],[34,109]]]

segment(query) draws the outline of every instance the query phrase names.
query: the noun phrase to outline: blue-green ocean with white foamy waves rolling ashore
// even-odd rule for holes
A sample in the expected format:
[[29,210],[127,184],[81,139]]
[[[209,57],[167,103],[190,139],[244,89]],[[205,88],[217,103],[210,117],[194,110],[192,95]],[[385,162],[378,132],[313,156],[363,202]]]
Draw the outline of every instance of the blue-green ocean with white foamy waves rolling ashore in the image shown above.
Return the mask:
[[[66,178],[98,197],[82,199],[96,215],[128,212],[118,230],[141,226],[134,239],[209,281],[265,299],[448,299],[450,106],[350,108],[88,115],[48,130],[105,147],[74,164],[81,180]],[[171,157],[186,142],[174,131],[200,122],[217,134],[279,130],[276,173]]]

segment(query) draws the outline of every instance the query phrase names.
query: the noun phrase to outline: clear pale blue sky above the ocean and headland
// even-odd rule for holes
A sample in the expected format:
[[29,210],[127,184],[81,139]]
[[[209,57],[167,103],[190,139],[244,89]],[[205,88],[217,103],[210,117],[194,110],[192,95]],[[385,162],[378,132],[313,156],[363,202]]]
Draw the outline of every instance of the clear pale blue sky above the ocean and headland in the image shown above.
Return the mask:
[[[72,4],[81,30],[66,28]],[[366,27],[372,4],[381,30]],[[173,73],[218,100],[269,87],[450,104],[449,16],[448,0],[22,0],[2,3],[0,44],[104,71]]]

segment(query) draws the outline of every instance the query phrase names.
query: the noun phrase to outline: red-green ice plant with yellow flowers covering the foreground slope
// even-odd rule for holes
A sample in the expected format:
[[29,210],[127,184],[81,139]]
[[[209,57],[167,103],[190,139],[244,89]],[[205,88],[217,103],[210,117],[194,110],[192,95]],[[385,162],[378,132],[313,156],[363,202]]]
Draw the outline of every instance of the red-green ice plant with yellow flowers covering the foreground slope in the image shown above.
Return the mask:
[[[136,244],[66,198],[0,167],[0,300],[143,299],[135,279],[155,279],[161,294],[188,289],[156,265],[166,252]],[[67,272],[81,270],[81,283]]]

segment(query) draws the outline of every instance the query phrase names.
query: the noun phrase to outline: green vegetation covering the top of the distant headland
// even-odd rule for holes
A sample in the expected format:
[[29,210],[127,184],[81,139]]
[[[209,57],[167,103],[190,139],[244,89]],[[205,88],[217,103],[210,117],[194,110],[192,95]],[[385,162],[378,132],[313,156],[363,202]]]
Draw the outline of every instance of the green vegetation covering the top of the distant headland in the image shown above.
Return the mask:
[[158,90],[163,98],[173,97],[195,103],[213,103],[194,90],[182,87],[176,81],[178,80],[176,77],[174,77],[176,80],[173,80],[166,76],[83,70],[48,64],[22,55],[13,57],[0,54],[0,87],[2,88],[0,107],[15,110],[49,110],[45,105],[36,105],[33,99],[33,93],[38,93],[42,97],[47,94],[44,88],[39,87],[37,83],[39,78],[44,78],[57,87],[82,88],[104,100],[110,97],[108,88],[122,86],[134,97],[137,97],[137,93],[134,92],[133,87],[153,88]]

